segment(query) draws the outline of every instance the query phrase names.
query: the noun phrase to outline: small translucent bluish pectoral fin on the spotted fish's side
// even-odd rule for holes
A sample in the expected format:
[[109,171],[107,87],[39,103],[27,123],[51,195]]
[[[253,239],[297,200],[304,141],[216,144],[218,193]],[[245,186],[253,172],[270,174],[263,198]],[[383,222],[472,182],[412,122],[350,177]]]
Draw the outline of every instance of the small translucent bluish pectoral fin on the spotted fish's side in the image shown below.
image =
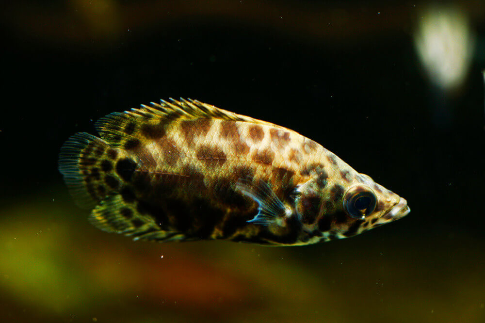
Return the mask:
[[235,185],[236,191],[252,198],[258,203],[258,214],[248,222],[260,225],[283,225],[283,220],[292,214],[292,211],[276,196],[271,187],[263,180],[253,182],[248,179],[239,179]]

